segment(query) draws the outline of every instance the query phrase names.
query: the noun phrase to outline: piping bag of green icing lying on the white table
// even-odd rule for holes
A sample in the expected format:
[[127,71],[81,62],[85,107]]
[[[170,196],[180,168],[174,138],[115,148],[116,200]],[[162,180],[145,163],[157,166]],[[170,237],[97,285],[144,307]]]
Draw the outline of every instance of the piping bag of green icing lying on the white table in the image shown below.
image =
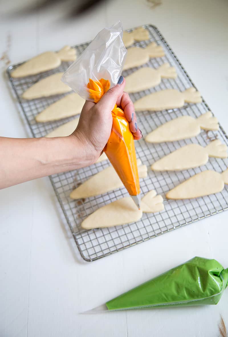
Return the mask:
[[228,268],[196,256],[85,313],[217,304],[227,283]]

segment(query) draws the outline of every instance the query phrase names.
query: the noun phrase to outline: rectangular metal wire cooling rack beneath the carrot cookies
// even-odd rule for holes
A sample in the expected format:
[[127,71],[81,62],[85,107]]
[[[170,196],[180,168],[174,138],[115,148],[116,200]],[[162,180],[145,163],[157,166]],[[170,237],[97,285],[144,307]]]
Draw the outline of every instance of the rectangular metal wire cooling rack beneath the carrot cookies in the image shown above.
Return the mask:
[[[145,29],[149,31],[150,39],[134,43],[132,46],[146,47],[151,41],[156,41],[157,44],[162,45],[165,50],[165,56],[161,58],[151,59],[143,66],[150,66],[157,68],[161,64],[168,62],[176,68],[178,77],[176,79],[162,79],[160,85],[155,88],[141,91],[139,93],[131,94],[133,102],[144,95],[162,89],[178,89],[184,91],[185,89],[194,86],[186,70],[177,59],[168,43],[159,32],[159,30],[152,25],[144,25]],[[131,32],[134,29],[128,30]],[[76,45],[77,54],[82,53],[89,43]],[[55,129],[59,125],[71,120],[66,118],[61,121],[37,123],[35,116],[40,113],[48,105],[57,101],[64,95],[57,95],[50,98],[34,99],[25,101],[20,98],[21,94],[32,84],[38,80],[59,71],[65,71],[69,62],[63,62],[57,69],[46,71],[45,73],[29,76],[27,78],[13,79],[10,76],[11,71],[18,65],[10,66],[7,69],[10,83],[15,92],[15,95],[20,103],[22,113],[30,127],[31,133],[34,137],[45,136],[48,132]],[[132,68],[123,72],[124,76],[129,75],[138,68]],[[194,86],[195,87],[195,86]],[[194,118],[199,117],[209,108],[203,100],[200,104],[185,104],[182,109],[164,110],[158,113],[150,113],[148,111],[137,113],[138,125],[143,135],[151,132],[159,125],[182,115],[190,115]],[[148,177],[140,180],[142,195],[151,189],[155,189],[158,194],[164,197],[164,211],[156,214],[143,214],[140,221],[130,223],[124,226],[101,228],[85,231],[80,228],[80,224],[89,214],[94,212],[99,207],[104,206],[118,198],[127,196],[126,189],[120,188],[109,193],[105,193],[96,197],[90,197],[83,200],[71,200],[70,192],[83,183],[92,175],[103,170],[109,165],[108,161],[103,161],[93,164],[89,167],[81,168],[76,171],[71,171],[62,174],[55,174],[50,177],[56,196],[65,216],[65,221],[68,223],[72,236],[75,240],[80,255],[86,261],[94,261],[98,258],[110,255],[122,249],[128,248],[140,242],[154,238],[161,234],[167,233],[172,229],[180,228],[191,222],[203,219],[207,216],[214,215],[221,211],[228,209],[228,188],[225,186],[224,190],[217,194],[191,199],[171,201],[165,199],[165,193],[178,185],[180,182],[188,179],[196,173],[204,170],[215,170],[217,172],[224,171],[228,166],[227,159],[210,158],[206,165],[191,170],[184,170],[181,172],[153,172],[150,169],[152,163],[164,155],[178,149],[186,144],[198,143],[206,146],[211,140],[219,138],[224,144],[228,145],[228,137],[220,126],[219,131],[201,133],[197,137],[189,140],[177,141],[172,143],[149,144],[141,139],[135,142],[137,157],[141,159],[142,163],[148,166]],[[99,223],[97,224],[99,227]]]

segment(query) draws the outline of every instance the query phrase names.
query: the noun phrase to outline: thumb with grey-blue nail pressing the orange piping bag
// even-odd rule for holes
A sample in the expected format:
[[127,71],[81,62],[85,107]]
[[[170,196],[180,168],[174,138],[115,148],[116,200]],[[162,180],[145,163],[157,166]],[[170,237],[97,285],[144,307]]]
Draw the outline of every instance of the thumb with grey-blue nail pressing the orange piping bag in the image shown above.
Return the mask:
[[119,84],[117,84],[115,87],[109,89],[97,103],[97,108],[99,108],[100,111],[110,113],[110,111],[112,111],[114,108],[118,98],[122,96],[126,84],[125,78],[120,76],[118,83]]

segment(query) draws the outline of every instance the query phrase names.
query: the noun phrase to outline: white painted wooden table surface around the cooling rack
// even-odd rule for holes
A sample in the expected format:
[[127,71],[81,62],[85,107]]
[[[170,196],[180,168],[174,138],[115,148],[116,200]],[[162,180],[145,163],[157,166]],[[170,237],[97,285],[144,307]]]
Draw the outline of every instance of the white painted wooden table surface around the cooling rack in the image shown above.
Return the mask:
[[[10,63],[64,44],[92,39],[121,20],[124,29],[156,25],[186,67],[211,110],[228,132],[228,2],[163,0],[103,2],[75,19],[63,19],[64,1],[34,14],[7,17],[1,3],[0,56]],[[0,135],[26,137],[0,63]],[[217,306],[79,314],[195,255],[228,267],[228,213],[85,263],[74,254],[56,209],[48,178],[0,191],[0,336],[219,336],[228,324],[228,290]]]

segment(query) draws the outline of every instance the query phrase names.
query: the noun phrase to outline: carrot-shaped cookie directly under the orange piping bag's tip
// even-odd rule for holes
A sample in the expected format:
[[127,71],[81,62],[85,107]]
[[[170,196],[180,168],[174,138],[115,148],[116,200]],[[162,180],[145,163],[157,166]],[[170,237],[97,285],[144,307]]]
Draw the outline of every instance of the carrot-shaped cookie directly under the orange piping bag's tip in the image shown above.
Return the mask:
[[156,213],[164,209],[163,198],[156,191],[148,192],[141,200],[140,210],[130,196],[105,205],[83,220],[84,229],[113,227],[135,222],[141,219],[142,213]]

